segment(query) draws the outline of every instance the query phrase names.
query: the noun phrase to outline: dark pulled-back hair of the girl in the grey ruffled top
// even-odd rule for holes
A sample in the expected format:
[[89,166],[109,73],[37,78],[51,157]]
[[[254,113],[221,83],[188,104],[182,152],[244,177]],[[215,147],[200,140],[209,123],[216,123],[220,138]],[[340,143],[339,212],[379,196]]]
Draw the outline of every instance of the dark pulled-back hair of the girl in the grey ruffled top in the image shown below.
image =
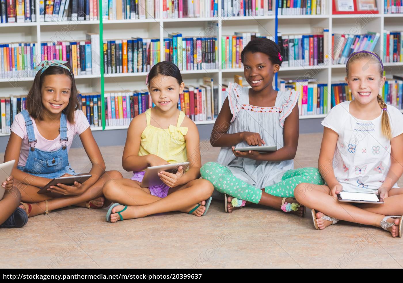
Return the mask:
[[269,56],[270,62],[272,64],[278,64],[281,66],[283,60],[278,58],[278,53],[281,54],[281,49],[276,42],[269,40],[268,38],[264,37],[256,37],[255,39],[249,41],[249,43],[243,48],[241,52],[241,62],[243,63],[245,54],[247,52],[256,53],[261,52]]

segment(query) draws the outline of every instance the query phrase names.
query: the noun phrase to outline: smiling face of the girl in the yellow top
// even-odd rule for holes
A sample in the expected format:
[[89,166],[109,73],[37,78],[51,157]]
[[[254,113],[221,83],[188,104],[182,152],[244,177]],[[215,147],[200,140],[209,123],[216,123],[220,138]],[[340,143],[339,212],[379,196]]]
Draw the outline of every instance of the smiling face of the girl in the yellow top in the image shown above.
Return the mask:
[[162,111],[177,108],[179,94],[183,92],[185,83],[179,84],[177,79],[170,76],[155,76],[150,81],[148,91],[152,102]]

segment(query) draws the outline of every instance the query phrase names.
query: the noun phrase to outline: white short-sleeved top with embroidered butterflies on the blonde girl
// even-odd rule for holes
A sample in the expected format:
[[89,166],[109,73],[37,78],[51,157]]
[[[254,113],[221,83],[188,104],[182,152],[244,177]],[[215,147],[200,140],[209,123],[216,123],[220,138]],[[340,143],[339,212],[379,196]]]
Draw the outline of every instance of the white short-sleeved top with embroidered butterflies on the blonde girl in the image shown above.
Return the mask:
[[[375,194],[391,165],[391,142],[382,135],[382,113],[372,121],[360,120],[350,114],[349,105],[350,101],[345,101],[334,106],[322,121],[324,127],[339,134],[334,175],[343,191]],[[392,137],[397,137],[403,133],[403,115],[390,105],[387,113]]]

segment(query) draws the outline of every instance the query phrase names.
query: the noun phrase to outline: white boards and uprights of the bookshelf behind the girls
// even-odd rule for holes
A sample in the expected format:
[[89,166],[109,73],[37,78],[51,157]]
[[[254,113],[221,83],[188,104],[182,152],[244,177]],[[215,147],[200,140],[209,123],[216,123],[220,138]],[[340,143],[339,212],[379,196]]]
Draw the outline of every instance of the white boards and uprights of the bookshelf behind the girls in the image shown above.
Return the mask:
[[[101,1],[98,3],[99,14]],[[36,2],[36,19],[39,20],[39,4]],[[383,30],[401,30],[403,22],[402,14],[384,14],[384,1],[377,0],[379,14],[358,14],[358,15],[332,15],[331,5],[327,5],[323,15],[276,15],[276,7],[273,7],[272,14],[268,16],[249,17],[208,17],[208,18],[184,18],[184,19],[127,19],[127,20],[103,20],[96,21],[66,21],[66,22],[34,22],[34,23],[7,23],[0,24],[1,42],[35,42],[37,46],[43,41],[85,40],[85,33],[100,33],[102,40],[123,39],[135,37],[159,38],[164,42],[168,33],[181,32],[183,36],[212,36],[210,23],[217,23],[218,28],[214,30],[214,36],[218,37],[218,62],[221,60],[221,40],[223,35],[233,35],[235,31],[260,32],[262,35],[276,35],[276,31],[282,34],[314,33],[317,28],[329,29],[328,46],[331,46],[332,33],[367,33],[367,31],[380,33],[380,39],[376,45],[375,52],[383,58]],[[160,1],[160,15],[162,15],[162,1]],[[221,11],[221,1],[218,1],[218,11]],[[277,29],[276,29],[277,28]],[[354,30],[351,30],[354,29]],[[63,32],[63,33],[62,33]],[[206,33],[208,32],[208,34]],[[64,37],[64,39],[63,39]],[[101,37],[101,36],[100,36]],[[60,39],[62,38],[62,39]],[[7,40],[4,40],[7,39]],[[102,40],[100,40],[102,44]],[[102,48],[102,46],[101,46]],[[102,50],[102,49],[101,49]],[[37,58],[40,58],[40,48],[36,50]],[[164,49],[161,48],[161,60],[164,59]],[[102,58],[101,58],[102,59]],[[102,60],[101,60],[102,62]],[[403,62],[385,63],[386,76],[391,74],[402,74]],[[214,84],[221,86],[233,81],[234,75],[243,75],[242,68],[236,69],[206,69],[181,71],[186,85],[199,85],[203,83],[203,76],[210,76]],[[77,89],[81,92],[105,92],[111,90],[135,90],[145,89],[145,76],[143,73],[115,73],[104,75],[81,75],[76,76]],[[334,81],[345,77],[345,66],[332,65],[331,60],[324,65],[281,67],[278,79],[286,77],[309,77],[318,83],[327,83],[328,86]],[[32,78],[8,78],[0,79],[2,96],[9,94],[27,94],[33,81]],[[219,87],[220,90],[220,87]],[[4,94],[4,95],[3,95]],[[330,98],[329,93],[327,94]],[[103,98],[103,94],[102,94]],[[328,99],[330,109],[330,99]],[[219,94],[219,105],[222,105],[222,95]],[[104,111],[103,111],[104,112]],[[326,114],[300,116],[300,119],[319,119]],[[197,125],[214,124],[214,121],[199,121]],[[103,125],[104,125],[103,120]],[[127,129],[128,126],[106,126],[91,128],[92,130]],[[9,135],[9,134],[0,134]]]

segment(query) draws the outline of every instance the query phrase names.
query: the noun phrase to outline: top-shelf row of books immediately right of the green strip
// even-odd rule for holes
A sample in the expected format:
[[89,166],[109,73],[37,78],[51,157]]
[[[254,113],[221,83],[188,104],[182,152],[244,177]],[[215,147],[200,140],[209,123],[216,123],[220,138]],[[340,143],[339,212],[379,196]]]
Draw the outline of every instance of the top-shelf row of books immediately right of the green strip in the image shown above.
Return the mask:
[[160,0],[102,0],[102,19],[159,19]]

